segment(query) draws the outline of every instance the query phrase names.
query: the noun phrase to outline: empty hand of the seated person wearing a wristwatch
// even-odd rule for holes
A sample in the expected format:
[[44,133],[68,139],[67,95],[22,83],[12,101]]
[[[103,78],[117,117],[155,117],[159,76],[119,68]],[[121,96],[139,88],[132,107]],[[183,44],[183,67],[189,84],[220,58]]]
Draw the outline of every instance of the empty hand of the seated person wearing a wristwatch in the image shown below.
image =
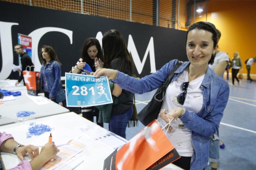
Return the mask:
[[26,153],[30,155],[31,159],[34,159],[34,157],[39,155],[39,149],[34,145],[20,146],[17,148],[16,153],[21,161],[24,160]]

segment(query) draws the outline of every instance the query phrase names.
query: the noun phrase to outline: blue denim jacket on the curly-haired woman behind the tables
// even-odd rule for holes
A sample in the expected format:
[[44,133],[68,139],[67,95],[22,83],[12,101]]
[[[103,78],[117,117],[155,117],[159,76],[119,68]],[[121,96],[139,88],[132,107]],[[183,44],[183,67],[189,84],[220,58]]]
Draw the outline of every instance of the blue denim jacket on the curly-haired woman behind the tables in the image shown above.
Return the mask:
[[[50,90],[49,97],[56,98],[57,91],[62,87],[60,80],[61,67],[59,62],[51,60],[48,64],[42,64],[40,74],[42,74],[43,71],[45,71],[45,77],[47,79],[48,88]],[[44,80],[42,79],[42,76],[40,76],[40,81],[42,89],[44,89]]]

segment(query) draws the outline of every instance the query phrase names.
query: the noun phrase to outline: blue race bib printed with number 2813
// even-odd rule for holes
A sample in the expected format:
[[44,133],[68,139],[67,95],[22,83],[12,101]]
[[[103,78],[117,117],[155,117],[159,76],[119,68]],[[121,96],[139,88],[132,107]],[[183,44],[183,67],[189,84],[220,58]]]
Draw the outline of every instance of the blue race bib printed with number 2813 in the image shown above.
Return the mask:
[[109,81],[106,76],[66,73],[67,106],[96,106],[113,103]]

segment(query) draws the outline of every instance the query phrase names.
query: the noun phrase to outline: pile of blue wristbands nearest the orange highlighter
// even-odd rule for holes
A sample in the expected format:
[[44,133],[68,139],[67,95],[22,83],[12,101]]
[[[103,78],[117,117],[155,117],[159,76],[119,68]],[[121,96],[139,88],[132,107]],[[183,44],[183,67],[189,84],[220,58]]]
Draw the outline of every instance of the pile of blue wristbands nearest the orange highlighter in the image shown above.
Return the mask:
[[30,123],[29,125],[32,127],[28,128],[27,138],[31,138],[33,135],[39,136],[44,132],[50,132],[52,130],[52,128],[44,124],[36,125],[36,123]]

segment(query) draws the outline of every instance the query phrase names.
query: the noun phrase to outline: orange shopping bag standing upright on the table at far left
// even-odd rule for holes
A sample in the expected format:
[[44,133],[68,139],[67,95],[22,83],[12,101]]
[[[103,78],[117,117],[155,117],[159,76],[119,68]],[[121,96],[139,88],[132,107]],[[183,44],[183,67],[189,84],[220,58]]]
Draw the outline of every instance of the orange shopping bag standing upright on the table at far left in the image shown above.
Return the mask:
[[[31,67],[34,67],[34,66],[31,66]],[[37,96],[39,92],[40,72],[25,70],[25,71],[22,71],[22,73],[23,73],[24,82],[26,84],[28,94]]]

